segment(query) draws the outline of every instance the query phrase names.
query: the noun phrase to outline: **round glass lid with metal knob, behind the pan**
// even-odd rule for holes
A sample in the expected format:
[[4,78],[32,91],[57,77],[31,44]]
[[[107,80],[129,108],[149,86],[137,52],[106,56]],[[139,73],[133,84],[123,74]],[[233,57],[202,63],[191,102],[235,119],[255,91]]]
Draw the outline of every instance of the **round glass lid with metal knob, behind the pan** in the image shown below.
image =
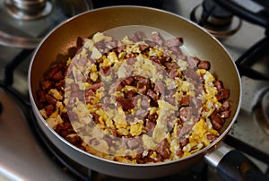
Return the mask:
[[35,48],[49,30],[91,6],[90,0],[0,0],[0,45]]

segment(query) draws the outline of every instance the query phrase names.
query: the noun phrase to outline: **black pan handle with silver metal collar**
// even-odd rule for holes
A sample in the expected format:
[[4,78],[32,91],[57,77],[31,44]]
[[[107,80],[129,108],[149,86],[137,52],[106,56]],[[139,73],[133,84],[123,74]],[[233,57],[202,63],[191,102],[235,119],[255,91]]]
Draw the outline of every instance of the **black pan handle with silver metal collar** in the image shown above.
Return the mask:
[[255,163],[224,142],[218,145],[217,150],[206,153],[204,159],[210,166],[216,168],[224,180],[268,181]]

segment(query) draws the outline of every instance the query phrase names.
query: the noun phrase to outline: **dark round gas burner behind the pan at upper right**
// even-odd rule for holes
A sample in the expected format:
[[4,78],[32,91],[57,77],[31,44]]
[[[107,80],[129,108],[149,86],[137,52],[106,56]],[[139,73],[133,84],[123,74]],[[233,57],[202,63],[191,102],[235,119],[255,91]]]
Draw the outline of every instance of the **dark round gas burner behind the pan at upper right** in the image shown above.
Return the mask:
[[213,0],[204,0],[202,4],[195,6],[190,14],[190,19],[217,38],[226,38],[235,34],[241,20],[230,12],[215,4]]

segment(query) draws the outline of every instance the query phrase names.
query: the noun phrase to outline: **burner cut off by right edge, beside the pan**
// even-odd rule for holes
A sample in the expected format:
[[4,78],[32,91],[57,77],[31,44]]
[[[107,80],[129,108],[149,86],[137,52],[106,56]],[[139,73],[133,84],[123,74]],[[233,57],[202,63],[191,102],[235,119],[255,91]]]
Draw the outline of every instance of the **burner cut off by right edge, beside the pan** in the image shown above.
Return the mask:
[[254,117],[265,134],[269,135],[269,90],[265,90],[257,101]]

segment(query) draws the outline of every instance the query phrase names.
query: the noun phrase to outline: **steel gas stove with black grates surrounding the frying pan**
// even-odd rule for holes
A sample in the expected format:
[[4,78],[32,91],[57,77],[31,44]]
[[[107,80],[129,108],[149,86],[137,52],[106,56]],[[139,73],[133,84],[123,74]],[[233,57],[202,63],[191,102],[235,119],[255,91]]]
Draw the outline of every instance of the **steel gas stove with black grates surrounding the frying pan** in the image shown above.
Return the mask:
[[[34,5],[42,9],[40,13],[28,9],[32,4],[23,6],[27,11],[22,8],[21,3],[29,2],[0,0],[0,14],[4,17],[0,20],[4,25],[0,28],[0,181],[126,180],[104,176],[65,158],[39,130],[28,100],[28,66],[40,39],[69,17],[106,4],[97,3],[100,1],[39,1],[40,4]],[[250,22],[241,18],[241,14],[223,10],[220,6],[219,13],[218,8],[212,8],[212,1],[163,0],[158,3],[146,5],[198,23],[220,40],[238,65],[242,75],[242,105],[224,142],[244,152],[268,176],[268,30],[266,32],[263,24]],[[261,7],[256,5],[253,9],[257,11]],[[204,161],[195,165],[187,175],[157,180],[176,180],[179,177],[182,180],[221,180]]]

